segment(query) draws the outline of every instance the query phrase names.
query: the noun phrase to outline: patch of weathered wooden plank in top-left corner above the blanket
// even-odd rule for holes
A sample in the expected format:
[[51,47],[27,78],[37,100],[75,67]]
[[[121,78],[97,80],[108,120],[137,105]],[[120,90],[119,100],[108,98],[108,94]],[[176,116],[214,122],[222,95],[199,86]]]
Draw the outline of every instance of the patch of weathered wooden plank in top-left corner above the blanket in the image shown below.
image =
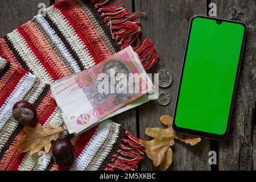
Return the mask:
[[49,0],[2,1],[0,6],[0,37],[2,38],[38,14],[40,9],[38,8],[39,3],[45,3],[46,7],[49,7]]

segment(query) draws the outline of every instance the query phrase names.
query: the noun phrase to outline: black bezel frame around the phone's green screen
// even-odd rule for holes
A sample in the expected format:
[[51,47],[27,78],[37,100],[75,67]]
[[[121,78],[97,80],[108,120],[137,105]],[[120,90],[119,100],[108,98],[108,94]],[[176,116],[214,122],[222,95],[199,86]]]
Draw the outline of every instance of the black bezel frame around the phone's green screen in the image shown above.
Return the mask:
[[[189,39],[190,39],[190,35],[191,35],[191,28],[192,28],[193,20],[196,19],[196,18],[212,19],[212,20],[216,20],[216,22],[221,21],[221,22],[238,23],[238,24],[241,24],[245,28],[245,31],[243,33],[242,46],[241,46],[241,51],[240,51],[240,58],[239,58],[238,67],[237,67],[236,80],[235,80],[235,84],[234,84],[234,88],[233,88],[232,103],[231,103],[230,109],[229,109],[228,124],[227,124],[227,127],[226,127],[226,132],[223,135],[207,133],[207,132],[204,132],[204,131],[185,129],[185,128],[181,128],[181,127],[178,127],[178,126],[175,125],[177,103],[179,101],[180,87],[181,87],[181,82],[183,80],[183,72],[184,72],[184,67],[185,67],[185,60],[186,60],[186,57],[187,57],[188,44],[189,44]],[[176,103],[175,103],[174,121],[172,123],[172,127],[174,128],[175,131],[177,131],[178,133],[195,135],[195,136],[198,136],[198,137],[204,137],[204,138],[216,139],[216,140],[224,140],[228,137],[230,120],[231,120],[231,117],[232,117],[232,110],[233,110],[233,106],[234,106],[234,97],[236,96],[237,82],[238,82],[238,77],[239,77],[240,68],[241,68],[243,50],[244,50],[244,47],[245,47],[245,38],[246,38],[246,25],[243,22],[238,22],[238,21],[228,20],[228,19],[221,19],[221,18],[214,18],[214,17],[209,17],[209,16],[203,16],[203,15],[195,15],[191,18],[191,21],[190,21],[190,24],[189,24],[189,31],[188,31],[188,36],[187,36],[185,54],[184,54],[184,59],[183,59],[182,71],[181,71],[181,76],[180,76],[179,89],[178,89],[178,92],[177,92]]]

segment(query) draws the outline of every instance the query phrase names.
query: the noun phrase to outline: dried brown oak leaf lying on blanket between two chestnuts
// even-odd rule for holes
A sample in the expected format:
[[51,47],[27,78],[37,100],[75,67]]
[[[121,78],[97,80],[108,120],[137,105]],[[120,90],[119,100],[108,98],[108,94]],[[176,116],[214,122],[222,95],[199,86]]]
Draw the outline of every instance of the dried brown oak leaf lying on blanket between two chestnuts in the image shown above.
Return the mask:
[[40,151],[43,147],[46,153],[49,152],[52,146],[51,141],[58,139],[63,131],[61,127],[53,128],[51,124],[42,128],[40,123],[36,124],[36,127],[24,127],[23,130],[26,135],[19,140],[18,146],[12,150],[30,151],[30,155]]

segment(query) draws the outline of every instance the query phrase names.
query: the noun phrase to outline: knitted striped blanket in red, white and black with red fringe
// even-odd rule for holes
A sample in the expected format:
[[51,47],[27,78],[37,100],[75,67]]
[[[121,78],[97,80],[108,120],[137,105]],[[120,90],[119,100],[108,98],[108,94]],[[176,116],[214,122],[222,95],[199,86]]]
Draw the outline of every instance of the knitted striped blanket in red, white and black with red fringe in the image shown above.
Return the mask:
[[[52,152],[28,155],[11,148],[24,137],[23,126],[12,117],[15,102],[34,104],[37,122],[63,126],[50,85],[59,78],[93,67],[127,46],[134,46],[146,71],[158,60],[150,39],[139,41],[135,13],[121,2],[63,0],[0,39],[0,170],[67,170],[56,166]],[[138,138],[112,121],[75,137],[70,170],[135,170],[143,159]]]

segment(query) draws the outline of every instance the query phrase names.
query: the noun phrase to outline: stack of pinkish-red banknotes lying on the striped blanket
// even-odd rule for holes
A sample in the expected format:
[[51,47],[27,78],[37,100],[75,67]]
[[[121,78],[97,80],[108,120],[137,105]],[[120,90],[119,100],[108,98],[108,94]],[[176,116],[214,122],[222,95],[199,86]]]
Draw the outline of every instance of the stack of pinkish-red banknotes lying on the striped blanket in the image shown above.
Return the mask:
[[133,48],[51,85],[65,126],[79,135],[98,123],[158,98]]

